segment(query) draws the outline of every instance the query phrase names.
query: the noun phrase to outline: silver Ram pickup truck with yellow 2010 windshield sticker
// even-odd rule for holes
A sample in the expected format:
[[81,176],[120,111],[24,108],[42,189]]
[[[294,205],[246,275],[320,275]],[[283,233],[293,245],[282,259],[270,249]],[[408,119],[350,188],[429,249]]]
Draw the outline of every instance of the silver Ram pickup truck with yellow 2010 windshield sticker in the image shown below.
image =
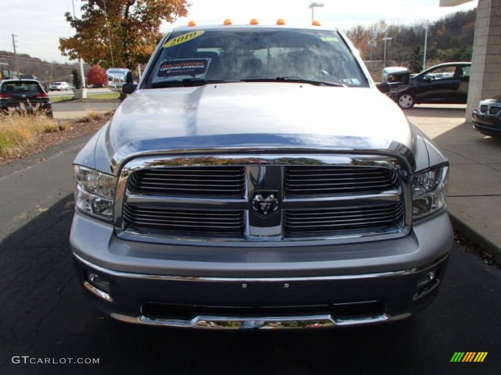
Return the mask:
[[174,28],[123,89],[73,166],[71,250],[104,313],[317,328],[405,318],[436,296],[447,159],[343,33]]

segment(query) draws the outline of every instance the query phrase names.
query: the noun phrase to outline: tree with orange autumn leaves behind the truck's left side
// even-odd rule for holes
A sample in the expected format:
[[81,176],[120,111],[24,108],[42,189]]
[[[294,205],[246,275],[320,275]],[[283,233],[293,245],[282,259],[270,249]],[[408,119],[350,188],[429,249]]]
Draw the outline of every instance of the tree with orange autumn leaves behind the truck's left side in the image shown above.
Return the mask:
[[60,38],[59,49],[70,60],[82,58],[104,68],[135,68],[138,63],[146,63],[162,36],[161,22],[173,22],[187,15],[189,6],[186,0],[81,2],[81,18],[65,13],[66,21],[76,33]]

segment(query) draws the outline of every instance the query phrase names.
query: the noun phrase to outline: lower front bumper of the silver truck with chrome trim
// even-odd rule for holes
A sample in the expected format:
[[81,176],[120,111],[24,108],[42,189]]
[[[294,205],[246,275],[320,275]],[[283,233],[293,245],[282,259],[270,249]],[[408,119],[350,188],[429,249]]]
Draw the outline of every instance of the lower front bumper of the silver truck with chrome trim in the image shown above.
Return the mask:
[[[380,323],[409,317],[412,313],[421,310],[433,300],[436,295],[436,289],[440,284],[448,255],[442,256],[440,259],[425,267],[402,271],[337,276],[276,278],[189,277],[129,273],[97,266],[75,253],[74,257],[77,266],[81,266],[83,269],[90,272],[96,272],[111,280],[110,285],[112,285],[112,290],[111,293],[107,293],[91,285],[85,277],[81,277],[85,288],[94,295],[94,297],[91,297],[94,303],[102,311],[115,319],[130,323],[165,327],[235,330],[333,328],[338,326]],[[437,272],[437,270],[439,277],[429,284],[429,287],[426,288],[425,292],[412,295],[413,291],[411,289],[413,289],[412,285],[416,284],[416,279],[420,276],[422,277],[423,275],[429,274],[431,271]],[[80,274],[82,273],[84,272],[81,272]],[[113,290],[113,280],[118,281],[116,284],[118,284],[118,287],[121,289],[117,290],[116,294],[114,294],[115,291]],[[319,300],[325,300],[329,303],[329,311],[335,311],[338,307],[352,308],[355,306],[356,309],[358,306],[365,306],[371,303],[375,304],[381,301],[384,305],[384,309],[377,311],[369,310],[367,312],[355,313],[352,315],[342,315],[329,313],[329,311],[326,312],[325,309],[327,304],[318,307],[318,310],[315,310],[317,306],[294,306],[292,304],[284,304],[286,307],[297,307],[298,311],[294,313],[291,313],[290,311],[287,313],[280,313],[279,311],[277,313],[277,311],[272,310],[264,311],[262,314],[248,314],[245,313],[245,311],[241,311],[241,313],[238,311],[233,314],[225,313],[226,311],[221,309],[218,311],[221,313],[206,313],[206,310],[204,311],[204,302],[205,307],[211,307],[212,310],[215,309],[214,305],[207,302],[207,300],[190,300],[193,296],[185,296],[186,292],[181,290],[184,285],[189,285],[187,286],[188,289],[190,292],[194,292],[194,294],[204,294],[204,287],[207,287],[205,290],[214,289],[214,295],[210,298],[212,298],[212,302],[215,301],[216,303],[218,300],[224,300],[227,298],[225,296],[225,290],[233,290],[234,295],[240,297],[241,294],[237,291],[239,288],[241,288],[240,290],[249,291],[256,289],[257,291],[255,294],[251,294],[252,298],[250,299],[252,300],[253,298],[255,299],[256,296],[260,298],[260,293],[262,293],[263,290],[275,290],[277,288],[285,288],[283,290],[296,288],[296,290],[300,290],[306,287],[307,290],[311,289],[311,294],[320,295],[320,299],[315,297],[307,303],[314,304],[312,301],[315,299],[317,302]],[[350,288],[353,286],[348,293],[346,290],[347,286]],[[319,291],[315,289],[322,291],[319,293]],[[326,289],[327,292],[325,291]],[[364,289],[367,289],[368,292],[365,292]],[[172,290],[179,290],[179,292],[173,293]],[[395,300],[392,300],[391,297],[385,299],[383,295],[385,293],[391,294],[392,292],[400,295],[403,293],[407,294],[407,301],[400,303],[400,301],[396,302]],[[339,293],[341,293],[341,296],[338,295]],[[161,300],[164,294],[170,296],[167,299]],[[329,299],[331,298],[331,294],[332,299]],[[351,294],[353,294],[355,298],[358,298],[355,302],[346,301],[347,295]],[[117,295],[118,300],[114,300],[112,295]],[[380,301],[370,300],[367,297],[368,295],[381,297]],[[125,301],[124,296],[126,299]],[[145,301],[158,301],[159,303],[157,304],[164,305],[169,308],[171,306],[169,304],[170,298],[187,298],[184,301],[178,300],[177,303],[188,303],[189,301],[197,302],[199,304],[198,306],[194,304],[190,307],[195,308],[195,310],[200,308],[200,313],[193,313],[183,317],[165,316],[157,313],[151,313],[151,311],[147,310],[145,307],[148,304],[144,303]],[[122,301],[120,301],[120,299],[122,299]],[[293,299],[294,298],[292,298],[291,301]],[[130,301],[133,301],[132,305],[134,307],[132,309],[128,306]],[[268,300],[263,303],[264,305],[267,305],[271,302],[271,300]],[[238,303],[234,304],[234,306],[237,305]],[[306,313],[301,310],[301,308],[304,307],[310,307],[313,311],[308,311]],[[237,309],[232,309],[231,311],[235,310]],[[134,313],[133,311],[137,312]]]

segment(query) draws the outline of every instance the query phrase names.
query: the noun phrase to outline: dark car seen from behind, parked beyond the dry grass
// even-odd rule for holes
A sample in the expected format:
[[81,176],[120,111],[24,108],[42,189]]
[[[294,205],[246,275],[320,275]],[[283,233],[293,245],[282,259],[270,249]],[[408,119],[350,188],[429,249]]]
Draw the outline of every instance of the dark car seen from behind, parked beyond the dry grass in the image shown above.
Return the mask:
[[33,113],[41,111],[52,117],[49,94],[36,79],[5,79],[0,82],[0,110]]

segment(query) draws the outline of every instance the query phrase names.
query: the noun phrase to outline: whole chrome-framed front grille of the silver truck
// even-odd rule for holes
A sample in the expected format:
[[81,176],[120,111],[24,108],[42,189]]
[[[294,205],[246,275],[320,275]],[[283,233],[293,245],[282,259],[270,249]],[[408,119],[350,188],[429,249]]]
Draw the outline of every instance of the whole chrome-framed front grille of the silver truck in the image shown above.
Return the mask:
[[[144,156],[121,169],[115,228],[128,239],[192,238],[217,246],[394,238],[408,233],[412,219],[404,168],[398,159],[375,155]],[[277,197],[276,211],[256,208],[261,192]]]

